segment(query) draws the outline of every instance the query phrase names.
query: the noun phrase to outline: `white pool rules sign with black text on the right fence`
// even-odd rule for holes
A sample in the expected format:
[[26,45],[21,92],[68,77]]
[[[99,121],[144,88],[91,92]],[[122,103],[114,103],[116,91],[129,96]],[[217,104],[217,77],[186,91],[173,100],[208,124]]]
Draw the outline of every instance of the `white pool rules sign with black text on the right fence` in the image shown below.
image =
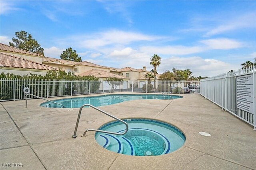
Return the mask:
[[236,107],[253,114],[253,74],[237,77]]

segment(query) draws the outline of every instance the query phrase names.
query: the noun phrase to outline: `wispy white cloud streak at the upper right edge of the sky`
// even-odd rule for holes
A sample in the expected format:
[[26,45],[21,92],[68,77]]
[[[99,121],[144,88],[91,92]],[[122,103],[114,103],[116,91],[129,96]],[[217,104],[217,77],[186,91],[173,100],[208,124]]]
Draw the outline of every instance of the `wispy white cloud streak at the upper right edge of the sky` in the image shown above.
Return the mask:
[[225,33],[227,31],[233,31],[236,29],[242,29],[246,27],[256,27],[255,12],[243,14],[242,16],[236,16],[234,19],[225,18],[226,23],[211,29],[204,36],[209,37]]

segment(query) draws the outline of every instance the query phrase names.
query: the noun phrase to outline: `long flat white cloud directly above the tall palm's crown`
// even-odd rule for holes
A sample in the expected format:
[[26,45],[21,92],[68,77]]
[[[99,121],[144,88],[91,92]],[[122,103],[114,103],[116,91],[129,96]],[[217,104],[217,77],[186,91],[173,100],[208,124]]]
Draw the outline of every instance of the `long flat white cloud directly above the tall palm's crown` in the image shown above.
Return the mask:
[[193,54],[199,53],[204,51],[203,47],[195,46],[195,47],[186,47],[182,45],[177,46],[142,46],[140,47],[140,51],[146,51],[150,54],[169,54],[169,55],[186,55],[186,54]]

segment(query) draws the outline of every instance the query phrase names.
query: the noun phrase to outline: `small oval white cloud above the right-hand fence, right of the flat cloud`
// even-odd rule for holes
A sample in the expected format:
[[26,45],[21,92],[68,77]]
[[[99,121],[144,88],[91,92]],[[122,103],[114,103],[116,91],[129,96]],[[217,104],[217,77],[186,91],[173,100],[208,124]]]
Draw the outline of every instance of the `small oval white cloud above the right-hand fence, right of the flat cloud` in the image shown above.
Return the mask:
[[235,49],[243,47],[242,43],[226,38],[206,39],[200,42],[207,45],[209,49]]

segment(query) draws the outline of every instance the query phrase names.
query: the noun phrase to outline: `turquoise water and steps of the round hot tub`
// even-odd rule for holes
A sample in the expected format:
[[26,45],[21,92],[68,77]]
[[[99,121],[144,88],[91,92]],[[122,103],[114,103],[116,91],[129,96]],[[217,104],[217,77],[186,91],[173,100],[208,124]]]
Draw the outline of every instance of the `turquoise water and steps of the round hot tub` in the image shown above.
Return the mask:
[[[179,149],[186,141],[178,128],[152,119],[126,119],[129,130],[124,135],[97,132],[95,139],[99,145],[113,152],[132,156],[156,156]],[[122,133],[126,126],[112,121],[99,128],[104,131]]]

